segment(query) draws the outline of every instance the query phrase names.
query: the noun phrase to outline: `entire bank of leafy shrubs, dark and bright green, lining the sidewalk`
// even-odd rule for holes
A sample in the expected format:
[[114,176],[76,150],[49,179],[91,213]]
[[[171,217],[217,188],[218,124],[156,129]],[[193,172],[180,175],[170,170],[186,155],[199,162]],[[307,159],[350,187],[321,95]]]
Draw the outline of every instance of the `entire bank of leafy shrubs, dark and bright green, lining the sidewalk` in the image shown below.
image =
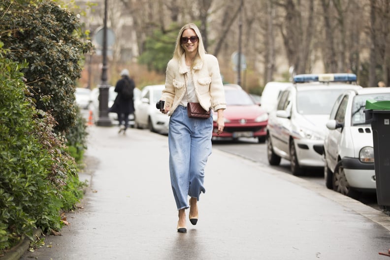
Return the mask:
[[74,91],[92,46],[82,37],[54,1],[0,1],[0,252],[36,227],[59,230],[60,211],[82,196],[74,158],[87,133]]

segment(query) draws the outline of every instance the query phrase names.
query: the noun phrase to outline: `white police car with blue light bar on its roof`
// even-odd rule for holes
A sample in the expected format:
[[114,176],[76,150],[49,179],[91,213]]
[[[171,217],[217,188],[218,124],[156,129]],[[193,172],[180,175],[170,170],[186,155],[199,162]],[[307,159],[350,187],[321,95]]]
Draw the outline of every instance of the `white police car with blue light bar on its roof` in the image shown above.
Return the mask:
[[332,105],[340,93],[362,87],[355,74],[302,74],[293,80],[269,114],[266,144],[269,164],[287,159],[292,174],[299,175],[306,167],[324,167],[325,124]]

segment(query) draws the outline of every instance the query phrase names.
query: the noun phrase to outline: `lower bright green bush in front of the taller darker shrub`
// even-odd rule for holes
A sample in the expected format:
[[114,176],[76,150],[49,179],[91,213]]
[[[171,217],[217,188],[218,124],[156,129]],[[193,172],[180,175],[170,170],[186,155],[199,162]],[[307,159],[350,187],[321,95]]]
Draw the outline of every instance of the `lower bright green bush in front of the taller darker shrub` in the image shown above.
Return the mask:
[[59,230],[60,211],[82,196],[65,137],[54,118],[35,109],[17,64],[4,58],[0,42],[0,251],[33,229]]

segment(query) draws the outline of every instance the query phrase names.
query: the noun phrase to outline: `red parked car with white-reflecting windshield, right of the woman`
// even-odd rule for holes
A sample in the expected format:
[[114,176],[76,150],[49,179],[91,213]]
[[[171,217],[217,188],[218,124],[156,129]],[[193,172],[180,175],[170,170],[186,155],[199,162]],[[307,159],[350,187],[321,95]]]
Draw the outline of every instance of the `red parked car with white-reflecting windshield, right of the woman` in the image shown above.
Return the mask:
[[225,97],[225,128],[223,133],[217,135],[217,113],[214,112],[213,138],[255,137],[259,142],[264,142],[268,114],[238,85],[226,84]]

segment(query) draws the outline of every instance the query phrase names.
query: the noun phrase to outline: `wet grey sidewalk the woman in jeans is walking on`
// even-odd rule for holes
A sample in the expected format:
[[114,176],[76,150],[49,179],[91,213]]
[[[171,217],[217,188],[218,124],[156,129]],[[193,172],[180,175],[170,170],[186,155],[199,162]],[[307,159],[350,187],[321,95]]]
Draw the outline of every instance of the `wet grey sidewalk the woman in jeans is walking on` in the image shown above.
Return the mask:
[[[390,217],[286,173],[213,149],[199,221],[176,231],[167,137],[90,127],[83,209],[30,260],[387,259]],[[186,212],[188,215],[188,211]],[[47,247],[47,246],[50,247]]]

